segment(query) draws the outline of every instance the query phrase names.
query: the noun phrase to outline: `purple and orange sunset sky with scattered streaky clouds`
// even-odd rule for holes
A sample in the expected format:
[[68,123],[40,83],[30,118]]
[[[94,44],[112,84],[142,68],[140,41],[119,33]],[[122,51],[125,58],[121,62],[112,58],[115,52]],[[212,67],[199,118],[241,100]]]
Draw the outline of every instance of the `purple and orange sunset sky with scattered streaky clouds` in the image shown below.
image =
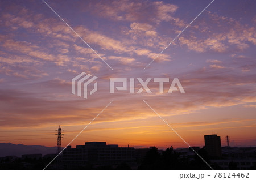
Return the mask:
[[[256,1],[215,0],[195,19],[210,2],[46,0],[112,70],[43,1],[0,1],[0,142],[55,146],[61,125],[65,147],[113,100],[73,147],[187,147],[144,100],[191,146],[255,146]],[[98,77],[88,99],[71,93],[81,72]],[[109,93],[109,78],[179,78],[185,93],[152,80]]]

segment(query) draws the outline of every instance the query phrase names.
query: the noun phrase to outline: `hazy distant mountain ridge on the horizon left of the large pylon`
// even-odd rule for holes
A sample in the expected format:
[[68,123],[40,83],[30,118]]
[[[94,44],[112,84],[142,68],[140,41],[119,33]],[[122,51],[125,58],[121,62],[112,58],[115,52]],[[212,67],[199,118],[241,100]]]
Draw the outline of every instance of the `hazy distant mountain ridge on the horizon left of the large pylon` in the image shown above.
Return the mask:
[[46,154],[56,153],[56,147],[46,147],[42,145],[23,145],[12,143],[0,143],[0,157],[18,156],[24,154]]

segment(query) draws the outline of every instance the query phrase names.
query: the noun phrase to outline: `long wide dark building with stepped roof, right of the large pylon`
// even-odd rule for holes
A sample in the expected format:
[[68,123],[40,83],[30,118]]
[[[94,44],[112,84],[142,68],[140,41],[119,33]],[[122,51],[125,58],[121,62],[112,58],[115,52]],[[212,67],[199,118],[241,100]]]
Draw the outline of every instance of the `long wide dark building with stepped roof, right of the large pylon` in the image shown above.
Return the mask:
[[68,146],[63,151],[64,164],[71,166],[115,165],[135,162],[135,151],[131,147],[118,147],[117,144],[106,145],[106,142],[86,142],[76,148]]

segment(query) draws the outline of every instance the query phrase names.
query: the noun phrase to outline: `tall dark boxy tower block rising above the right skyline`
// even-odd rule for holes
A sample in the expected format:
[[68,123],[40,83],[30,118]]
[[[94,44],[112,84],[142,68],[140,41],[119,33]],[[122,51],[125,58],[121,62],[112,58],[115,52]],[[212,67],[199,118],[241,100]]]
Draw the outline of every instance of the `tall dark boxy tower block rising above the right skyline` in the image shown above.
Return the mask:
[[205,150],[209,156],[221,157],[221,139],[217,134],[204,135]]

